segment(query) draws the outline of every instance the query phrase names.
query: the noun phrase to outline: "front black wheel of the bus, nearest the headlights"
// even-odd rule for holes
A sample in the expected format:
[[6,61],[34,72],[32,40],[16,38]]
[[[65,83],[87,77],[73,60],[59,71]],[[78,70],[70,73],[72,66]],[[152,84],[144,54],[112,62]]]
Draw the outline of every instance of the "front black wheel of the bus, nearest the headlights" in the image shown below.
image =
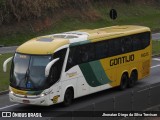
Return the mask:
[[64,106],[69,106],[72,101],[73,101],[73,90],[72,89],[67,89],[64,95],[64,101],[63,101],[63,105]]

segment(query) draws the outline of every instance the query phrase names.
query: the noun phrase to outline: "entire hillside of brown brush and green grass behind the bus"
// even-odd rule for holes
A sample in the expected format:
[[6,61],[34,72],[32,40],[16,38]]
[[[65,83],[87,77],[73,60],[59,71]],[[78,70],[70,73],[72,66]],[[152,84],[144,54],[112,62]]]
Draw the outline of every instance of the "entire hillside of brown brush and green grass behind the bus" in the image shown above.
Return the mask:
[[[118,18],[110,20],[111,8]],[[158,27],[160,0],[0,0],[0,44],[19,45],[39,35],[117,24]]]

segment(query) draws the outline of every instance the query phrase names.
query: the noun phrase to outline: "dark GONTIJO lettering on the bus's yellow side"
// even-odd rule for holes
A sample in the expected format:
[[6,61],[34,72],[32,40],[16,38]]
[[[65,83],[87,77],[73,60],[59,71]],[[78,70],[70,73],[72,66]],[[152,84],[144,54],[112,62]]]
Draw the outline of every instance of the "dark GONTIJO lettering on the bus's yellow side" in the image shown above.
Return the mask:
[[134,54],[131,54],[129,56],[123,56],[115,59],[110,60],[110,66],[119,65],[127,62],[134,61]]

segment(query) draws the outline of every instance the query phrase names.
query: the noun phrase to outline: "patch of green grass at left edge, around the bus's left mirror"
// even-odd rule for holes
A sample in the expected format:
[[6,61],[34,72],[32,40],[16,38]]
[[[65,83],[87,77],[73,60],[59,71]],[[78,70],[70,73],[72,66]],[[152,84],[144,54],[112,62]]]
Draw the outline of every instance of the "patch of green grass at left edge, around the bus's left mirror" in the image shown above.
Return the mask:
[[8,90],[9,86],[9,73],[10,73],[10,64],[8,64],[7,72],[3,72],[3,62],[11,57],[13,54],[2,54],[0,55],[0,91]]

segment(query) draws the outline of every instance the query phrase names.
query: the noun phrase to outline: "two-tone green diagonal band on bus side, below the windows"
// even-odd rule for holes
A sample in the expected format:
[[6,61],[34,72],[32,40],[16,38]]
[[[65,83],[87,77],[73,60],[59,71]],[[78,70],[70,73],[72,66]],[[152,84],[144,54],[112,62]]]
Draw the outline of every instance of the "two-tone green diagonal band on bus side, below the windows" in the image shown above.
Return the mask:
[[100,61],[81,64],[80,69],[87,83],[92,87],[104,85],[111,82],[107,77]]

